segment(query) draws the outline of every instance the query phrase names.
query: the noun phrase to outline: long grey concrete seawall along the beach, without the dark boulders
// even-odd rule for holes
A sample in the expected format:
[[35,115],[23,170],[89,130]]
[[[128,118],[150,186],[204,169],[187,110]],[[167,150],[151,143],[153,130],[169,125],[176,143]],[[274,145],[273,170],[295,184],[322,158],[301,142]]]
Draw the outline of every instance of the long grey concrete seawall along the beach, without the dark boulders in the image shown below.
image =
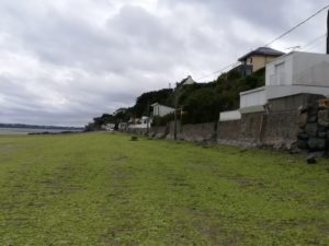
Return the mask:
[[[239,120],[183,126],[178,121],[177,137],[188,141],[216,141],[246,147],[271,145],[291,149],[297,142],[300,108],[316,105],[319,98],[322,96],[299,94],[270,99],[265,112],[242,114]],[[145,134],[146,130],[139,129],[135,132]],[[166,127],[150,128],[149,136],[173,139],[174,122],[171,121]]]

